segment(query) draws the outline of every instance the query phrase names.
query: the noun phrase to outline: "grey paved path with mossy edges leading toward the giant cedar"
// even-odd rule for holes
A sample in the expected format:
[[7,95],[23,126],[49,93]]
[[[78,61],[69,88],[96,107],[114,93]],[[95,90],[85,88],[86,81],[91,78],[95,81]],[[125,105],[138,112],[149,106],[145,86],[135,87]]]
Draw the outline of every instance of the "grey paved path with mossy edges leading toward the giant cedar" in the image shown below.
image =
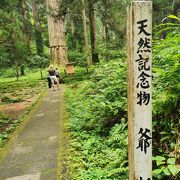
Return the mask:
[[58,168],[60,96],[49,91],[6,156],[0,180],[55,180]]

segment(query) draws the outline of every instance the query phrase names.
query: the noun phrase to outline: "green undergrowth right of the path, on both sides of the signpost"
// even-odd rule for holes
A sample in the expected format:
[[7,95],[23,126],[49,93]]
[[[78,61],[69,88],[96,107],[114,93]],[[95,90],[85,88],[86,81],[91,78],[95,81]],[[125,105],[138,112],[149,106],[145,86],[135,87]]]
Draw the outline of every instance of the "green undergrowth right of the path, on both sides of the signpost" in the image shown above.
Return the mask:
[[[154,38],[153,179],[180,178],[177,27],[168,32],[165,27],[164,40]],[[66,104],[74,179],[128,179],[126,71],[125,57],[112,59],[96,65],[87,80],[69,85]]]

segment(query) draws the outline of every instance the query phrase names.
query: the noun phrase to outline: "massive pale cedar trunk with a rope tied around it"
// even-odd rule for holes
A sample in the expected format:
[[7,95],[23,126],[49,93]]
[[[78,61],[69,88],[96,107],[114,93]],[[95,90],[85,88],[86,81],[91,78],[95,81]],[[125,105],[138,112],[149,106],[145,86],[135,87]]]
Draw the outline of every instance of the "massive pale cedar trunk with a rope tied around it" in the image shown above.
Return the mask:
[[46,0],[49,44],[52,64],[68,63],[66,47],[65,16],[58,14],[58,0]]

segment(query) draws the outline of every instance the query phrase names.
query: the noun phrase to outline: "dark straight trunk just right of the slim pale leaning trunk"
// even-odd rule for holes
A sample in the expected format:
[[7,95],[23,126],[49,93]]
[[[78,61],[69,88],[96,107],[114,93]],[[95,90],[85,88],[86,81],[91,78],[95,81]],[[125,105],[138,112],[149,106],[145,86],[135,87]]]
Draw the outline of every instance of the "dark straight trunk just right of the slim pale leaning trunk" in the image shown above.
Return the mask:
[[99,62],[97,53],[97,38],[96,38],[96,24],[94,15],[94,0],[89,0],[89,21],[90,21],[90,35],[91,35],[91,51],[92,62]]

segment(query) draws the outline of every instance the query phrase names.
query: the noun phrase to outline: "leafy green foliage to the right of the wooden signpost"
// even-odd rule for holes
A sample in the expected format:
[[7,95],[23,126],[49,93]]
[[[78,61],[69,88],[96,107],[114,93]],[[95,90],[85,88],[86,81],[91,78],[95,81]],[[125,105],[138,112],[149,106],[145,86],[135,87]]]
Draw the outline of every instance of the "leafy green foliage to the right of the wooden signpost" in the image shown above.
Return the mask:
[[[155,158],[157,166],[154,165],[154,173],[158,179],[180,178],[173,171],[180,162],[178,150],[180,141],[179,26],[178,23],[165,23],[155,28],[153,49],[153,154],[157,157]],[[165,39],[157,38],[162,34],[166,35]],[[160,163],[161,159],[162,164]],[[172,168],[172,164],[168,165],[168,162],[170,162],[169,159],[175,160],[173,164],[174,168]]]

